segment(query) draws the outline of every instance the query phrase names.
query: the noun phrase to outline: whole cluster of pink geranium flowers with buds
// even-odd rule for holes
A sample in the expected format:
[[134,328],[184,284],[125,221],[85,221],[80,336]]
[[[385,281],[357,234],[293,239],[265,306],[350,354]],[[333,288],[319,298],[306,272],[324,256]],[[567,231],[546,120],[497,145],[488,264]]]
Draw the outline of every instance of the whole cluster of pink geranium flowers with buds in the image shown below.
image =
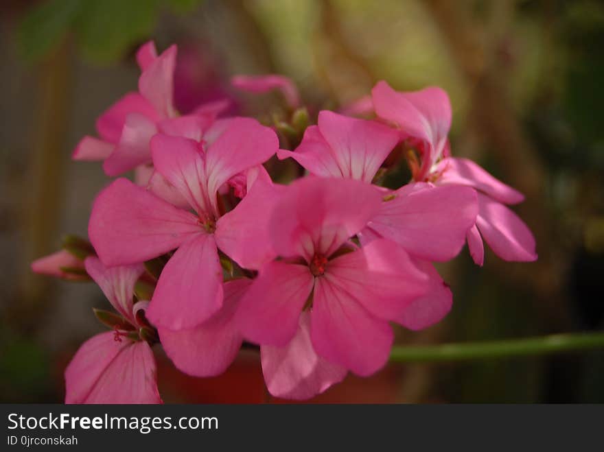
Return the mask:
[[[371,97],[316,125],[224,117],[228,101],[188,115],[174,108],[176,47],[137,53],[138,91],[97,121],[76,160],[119,177],[94,201],[90,243],[34,262],[33,270],[91,278],[117,313],[65,372],[67,403],[159,403],[152,348],[198,377],[218,375],[243,342],[259,346],[270,394],[307,399],[348,372],[388,360],[392,324],[439,322],[452,293],[432,265],[467,242],[483,265],[483,239],[502,259],[533,261],[535,240],[505,204],[522,194],[476,163],[451,156],[451,107],[440,88],[402,93],[379,82]],[[290,118],[308,117],[279,75],[238,76],[244,91],[281,91]],[[346,113],[346,115],[344,114]],[[373,119],[353,115],[368,113]],[[282,122],[282,121],[281,121]],[[287,121],[286,121],[287,122]],[[295,122],[295,124],[294,124]],[[281,138],[281,140],[280,140]],[[403,156],[412,180],[382,185]],[[269,159],[293,159],[300,178],[272,181]]]

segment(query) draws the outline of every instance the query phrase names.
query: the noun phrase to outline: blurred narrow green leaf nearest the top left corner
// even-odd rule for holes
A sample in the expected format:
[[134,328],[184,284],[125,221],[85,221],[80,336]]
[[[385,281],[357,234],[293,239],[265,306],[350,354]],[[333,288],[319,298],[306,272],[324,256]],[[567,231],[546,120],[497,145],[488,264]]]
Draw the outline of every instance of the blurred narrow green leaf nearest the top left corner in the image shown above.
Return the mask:
[[34,62],[54,50],[82,9],[82,0],[48,0],[34,6],[19,24],[17,46]]

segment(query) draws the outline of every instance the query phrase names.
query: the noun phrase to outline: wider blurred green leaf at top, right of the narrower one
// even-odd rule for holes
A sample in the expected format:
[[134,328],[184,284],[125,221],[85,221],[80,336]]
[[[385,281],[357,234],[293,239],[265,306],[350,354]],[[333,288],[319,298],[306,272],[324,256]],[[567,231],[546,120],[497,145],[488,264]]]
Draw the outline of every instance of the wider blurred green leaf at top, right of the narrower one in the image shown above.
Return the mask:
[[155,27],[159,0],[86,0],[76,23],[86,58],[108,63],[148,38]]

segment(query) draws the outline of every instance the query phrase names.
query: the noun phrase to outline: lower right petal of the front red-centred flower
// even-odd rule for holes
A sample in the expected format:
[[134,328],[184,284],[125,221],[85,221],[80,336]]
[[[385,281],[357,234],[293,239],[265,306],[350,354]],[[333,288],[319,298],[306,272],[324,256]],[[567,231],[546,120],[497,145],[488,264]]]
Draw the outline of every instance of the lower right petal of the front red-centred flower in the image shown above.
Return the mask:
[[310,335],[318,355],[361,377],[380,370],[388,361],[394,335],[348,292],[316,278]]

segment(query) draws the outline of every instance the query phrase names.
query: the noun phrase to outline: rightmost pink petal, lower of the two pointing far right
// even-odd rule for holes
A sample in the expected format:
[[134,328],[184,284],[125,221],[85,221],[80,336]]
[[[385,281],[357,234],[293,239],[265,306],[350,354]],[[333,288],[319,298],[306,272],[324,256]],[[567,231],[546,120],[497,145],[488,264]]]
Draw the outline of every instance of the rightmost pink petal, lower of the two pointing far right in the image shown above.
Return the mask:
[[537,260],[535,237],[528,226],[506,206],[480,193],[476,226],[491,250],[504,261]]

